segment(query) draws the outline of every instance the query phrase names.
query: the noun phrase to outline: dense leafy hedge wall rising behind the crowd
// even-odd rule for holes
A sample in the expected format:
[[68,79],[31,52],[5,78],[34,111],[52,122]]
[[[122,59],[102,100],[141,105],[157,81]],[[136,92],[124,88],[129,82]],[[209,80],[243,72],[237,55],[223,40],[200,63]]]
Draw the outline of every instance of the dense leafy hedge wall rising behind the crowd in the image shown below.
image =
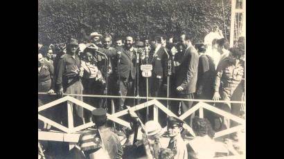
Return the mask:
[[224,15],[222,0],[39,0],[39,41],[84,40],[94,31],[143,37],[182,30],[200,41],[212,26],[229,37],[231,1],[223,1]]

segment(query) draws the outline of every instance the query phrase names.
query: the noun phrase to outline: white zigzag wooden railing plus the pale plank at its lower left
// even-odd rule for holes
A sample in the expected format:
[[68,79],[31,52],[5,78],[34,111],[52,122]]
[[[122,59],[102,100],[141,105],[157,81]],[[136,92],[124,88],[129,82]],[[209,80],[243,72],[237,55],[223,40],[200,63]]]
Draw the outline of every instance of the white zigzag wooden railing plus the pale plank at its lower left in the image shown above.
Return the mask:
[[[46,93],[39,93],[39,94],[46,94]],[[69,94],[69,95],[73,95],[73,94]],[[49,120],[48,118],[45,118],[44,116],[38,114],[39,120],[42,120],[43,122],[51,124],[53,127],[63,131],[63,132],[60,132],[60,131],[39,131],[38,132],[38,139],[39,140],[53,140],[53,141],[69,142],[69,144],[72,146],[72,145],[75,145],[76,142],[78,142],[81,130],[94,126],[93,122],[89,122],[89,123],[86,123],[86,124],[82,124],[78,127],[73,127],[73,112],[72,112],[73,109],[72,109],[71,103],[77,104],[78,106],[82,106],[83,108],[88,109],[89,111],[93,111],[96,108],[94,106],[86,104],[85,102],[77,100],[74,97],[71,97],[69,95],[62,97],[58,100],[55,100],[53,102],[50,102],[48,104],[44,104],[43,106],[38,107],[38,112],[49,109],[49,108],[51,108],[51,107],[53,107],[57,104],[60,104],[62,102],[67,102],[67,107],[68,107],[68,109],[67,109],[68,110],[68,128],[64,127],[61,124],[58,124],[57,122],[54,122],[53,120]],[[81,96],[84,96],[84,97],[112,97],[112,98],[121,97],[121,96],[111,96],[111,95],[81,95]],[[144,97],[128,97],[128,96],[126,98],[145,99]],[[133,110],[133,111],[138,111],[139,109],[144,109],[144,108],[149,107],[149,106],[154,106],[153,117],[154,117],[154,120],[158,122],[158,117],[159,117],[158,116],[158,110],[159,109],[161,111],[163,111],[164,113],[166,113],[167,115],[177,117],[177,115],[175,115],[175,113],[172,113],[172,111],[167,109],[166,106],[163,106],[163,104],[161,104],[161,102],[159,102],[158,100],[194,101],[194,102],[198,102],[198,103],[195,104],[195,106],[193,106],[191,109],[189,109],[188,111],[186,111],[184,114],[182,114],[181,116],[179,116],[177,118],[184,120],[189,115],[194,113],[195,111],[199,111],[199,117],[204,118],[204,109],[207,109],[208,111],[212,111],[213,113],[217,113],[218,115],[222,115],[225,118],[229,118],[230,120],[233,120],[233,121],[238,122],[240,124],[236,127],[232,127],[232,128],[225,129],[223,131],[219,131],[219,132],[215,133],[214,138],[219,138],[219,137],[222,137],[224,135],[228,135],[230,133],[234,133],[236,131],[240,131],[242,129],[245,129],[245,120],[244,119],[242,119],[242,118],[240,118],[236,115],[233,115],[231,113],[228,113],[226,111],[222,111],[221,109],[218,109],[215,106],[211,106],[210,104],[205,103],[205,102],[212,102],[212,103],[213,102],[227,102],[227,103],[245,104],[245,102],[242,102],[242,101],[193,100],[193,99],[178,99],[178,98],[163,98],[163,97],[149,97],[149,99],[153,99],[153,100],[150,100],[150,101],[142,103],[142,104],[138,104],[136,106],[132,106],[130,109]],[[125,109],[123,111],[118,111],[118,112],[113,113],[113,114],[107,113],[107,119],[112,120],[112,121],[114,121],[118,124],[125,126],[125,127],[130,127],[129,122],[126,122],[125,120],[121,120],[119,118],[119,117],[121,117],[125,114],[127,114],[127,109]],[[186,127],[186,129],[188,129],[188,131],[193,136],[195,136],[193,129],[190,126],[188,126],[188,124],[185,124],[185,127]],[[164,127],[163,129],[166,129],[166,127]]]

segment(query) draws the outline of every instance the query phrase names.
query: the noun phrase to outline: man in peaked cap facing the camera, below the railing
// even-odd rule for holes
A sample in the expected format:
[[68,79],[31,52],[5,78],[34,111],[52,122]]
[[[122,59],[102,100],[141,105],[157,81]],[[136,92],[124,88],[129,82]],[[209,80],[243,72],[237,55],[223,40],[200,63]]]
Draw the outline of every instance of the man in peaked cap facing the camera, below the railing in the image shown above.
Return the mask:
[[175,159],[188,158],[186,143],[181,138],[181,132],[184,131],[183,124],[184,121],[179,118],[173,116],[168,117],[168,135],[170,136],[168,148],[173,151]]

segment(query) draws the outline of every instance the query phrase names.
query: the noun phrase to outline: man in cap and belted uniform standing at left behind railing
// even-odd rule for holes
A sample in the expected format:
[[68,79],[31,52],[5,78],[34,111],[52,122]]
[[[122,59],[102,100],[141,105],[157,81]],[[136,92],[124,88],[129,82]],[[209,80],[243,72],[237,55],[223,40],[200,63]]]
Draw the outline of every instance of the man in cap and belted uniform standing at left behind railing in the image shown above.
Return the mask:
[[[57,94],[61,97],[63,93],[66,94],[79,94],[82,95],[83,86],[79,77],[80,59],[76,54],[78,52],[78,40],[69,39],[66,46],[66,54],[60,57],[57,66]],[[82,96],[74,96],[77,100],[83,101]],[[71,103],[72,104],[72,103]],[[74,114],[74,124],[80,125],[84,122],[83,108],[81,106],[75,105],[76,111]],[[64,118],[64,124],[66,124],[66,110],[62,110],[62,118]],[[75,125],[75,126],[76,126]]]

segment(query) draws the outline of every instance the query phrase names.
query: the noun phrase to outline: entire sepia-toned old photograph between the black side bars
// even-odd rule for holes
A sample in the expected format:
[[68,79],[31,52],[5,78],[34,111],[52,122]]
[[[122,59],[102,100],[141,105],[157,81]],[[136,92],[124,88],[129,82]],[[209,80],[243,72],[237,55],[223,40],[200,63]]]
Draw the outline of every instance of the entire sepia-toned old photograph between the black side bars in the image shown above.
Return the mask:
[[38,159],[245,159],[245,6],[38,0]]

